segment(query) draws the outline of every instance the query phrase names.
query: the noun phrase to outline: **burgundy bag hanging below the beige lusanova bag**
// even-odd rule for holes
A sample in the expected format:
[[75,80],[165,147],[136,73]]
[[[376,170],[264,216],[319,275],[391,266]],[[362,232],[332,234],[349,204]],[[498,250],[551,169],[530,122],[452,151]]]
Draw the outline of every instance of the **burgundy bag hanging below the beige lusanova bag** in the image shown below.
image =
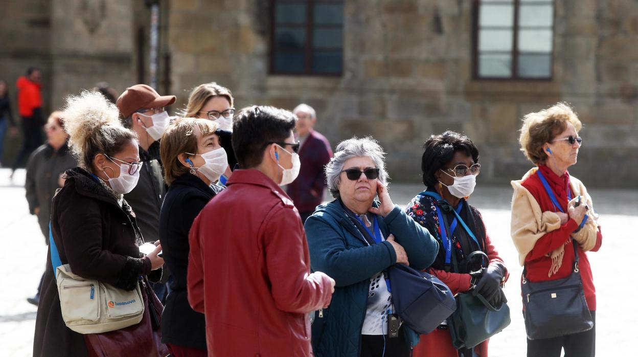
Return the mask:
[[168,347],[161,343],[161,313],[164,307],[146,278],[138,284],[142,284],[145,304],[142,321],[120,330],[83,335],[90,357],[168,356]]

